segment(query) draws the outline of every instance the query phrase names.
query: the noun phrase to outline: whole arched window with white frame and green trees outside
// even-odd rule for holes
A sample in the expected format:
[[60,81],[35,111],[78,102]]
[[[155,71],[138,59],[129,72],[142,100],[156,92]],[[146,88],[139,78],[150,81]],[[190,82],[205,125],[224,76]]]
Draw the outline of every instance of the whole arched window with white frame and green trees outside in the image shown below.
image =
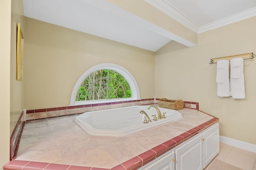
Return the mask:
[[82,74],[74,86],[70,105],[98,104],[139,99],[132,74],[112,63],[96,65]]

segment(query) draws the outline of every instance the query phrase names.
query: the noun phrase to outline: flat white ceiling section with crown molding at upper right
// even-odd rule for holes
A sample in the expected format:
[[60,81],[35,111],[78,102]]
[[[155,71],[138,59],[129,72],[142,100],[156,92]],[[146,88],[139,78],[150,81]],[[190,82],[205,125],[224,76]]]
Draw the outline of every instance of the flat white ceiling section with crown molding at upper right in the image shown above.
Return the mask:
[[256,16],[256,0],[145,0],[196,33]]

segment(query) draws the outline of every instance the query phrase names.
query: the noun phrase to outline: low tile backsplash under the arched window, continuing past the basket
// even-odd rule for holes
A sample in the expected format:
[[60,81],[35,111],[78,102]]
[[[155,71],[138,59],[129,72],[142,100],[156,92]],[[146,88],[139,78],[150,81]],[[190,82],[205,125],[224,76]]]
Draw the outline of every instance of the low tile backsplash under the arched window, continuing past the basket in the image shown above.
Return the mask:
[[[158,101],[159,99],[156,98],[156,103],[154,103],[155,100],[153,98],[150,98],[150,99],[132,100],[132,101],[124,101],[124,102],[112,102],[112,103],[103,103],[103,104],[89,104],[89,105],[81,105],[81,106],[66,106],[66,107],[27,110],[26,120],[46,119],[50,117],[80,114],[88,111],[113,109],[118,107],[158,104]],[[199,110],[198,102],[184,101],[184,107]]]

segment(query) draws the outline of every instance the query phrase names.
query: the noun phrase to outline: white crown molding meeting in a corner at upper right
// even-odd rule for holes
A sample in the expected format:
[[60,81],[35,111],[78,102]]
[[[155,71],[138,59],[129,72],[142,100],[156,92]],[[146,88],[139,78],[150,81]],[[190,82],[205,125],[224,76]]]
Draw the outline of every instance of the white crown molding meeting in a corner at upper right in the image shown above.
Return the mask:
[[170,6],[170,4],[166,4],[162,0],[144,0],[151,4],[152,6],[156,7],[158,10],[164,12],[174,20],[178,21],[182,25],[186,26],[188,29],[196,33],[203,33],[206,31],[210,31],[212,29],[222,27],[224,25],[228,25],[237,21],[241,21],[253,16],[256,16],[256,7],[251,8],[249,10],[245,10],[238,14],[234,14],[222,20],[218,20],[200,27],[195,22],[193,22],[188,16],[182,14],[182,12],[178,11],[174,6]]

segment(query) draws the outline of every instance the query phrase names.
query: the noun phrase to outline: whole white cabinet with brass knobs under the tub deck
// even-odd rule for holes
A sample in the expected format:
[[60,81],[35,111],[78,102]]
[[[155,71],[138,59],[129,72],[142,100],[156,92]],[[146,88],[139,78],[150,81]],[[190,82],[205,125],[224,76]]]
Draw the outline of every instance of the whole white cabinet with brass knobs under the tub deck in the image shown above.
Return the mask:
[[139,170],[203,170],[220,151],[219,124],[166,152]]

